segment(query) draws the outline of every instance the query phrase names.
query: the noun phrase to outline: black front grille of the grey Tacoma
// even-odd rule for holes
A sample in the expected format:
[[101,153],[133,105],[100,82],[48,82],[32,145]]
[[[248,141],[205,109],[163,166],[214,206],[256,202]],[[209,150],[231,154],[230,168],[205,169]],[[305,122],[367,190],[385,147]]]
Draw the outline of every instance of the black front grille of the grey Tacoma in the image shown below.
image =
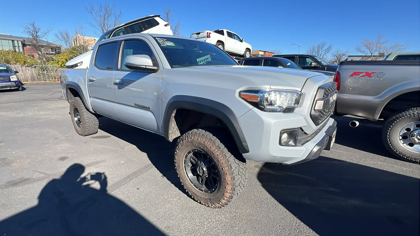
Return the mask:
[[[324,84],[318,88],[314,102],[312,104],[312,110],[310,115],[312,121],[315,123],[316,126],[325,121],[325,119],[330,117],[331,113],[333,113],[334,108],[336,106],[336,102],[334,101],[330,103],[330,97],[336,92],[338,92],[336,82]],[[315,104],[317,101],[320,100],[324,101],[323,108],[321,110],[315,111]]]

